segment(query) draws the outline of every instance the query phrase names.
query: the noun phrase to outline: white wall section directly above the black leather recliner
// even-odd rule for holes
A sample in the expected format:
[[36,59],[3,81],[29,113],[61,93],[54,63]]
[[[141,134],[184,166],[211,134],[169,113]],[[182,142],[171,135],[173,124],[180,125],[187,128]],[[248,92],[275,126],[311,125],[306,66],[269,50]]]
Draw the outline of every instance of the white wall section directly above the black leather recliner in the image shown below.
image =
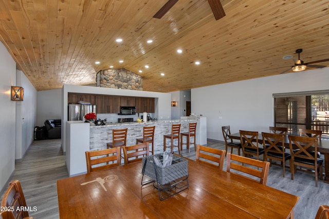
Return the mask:
[[62,118],[62,102],[62,89],[38,91],[36,124],[44,126],[45,120]]

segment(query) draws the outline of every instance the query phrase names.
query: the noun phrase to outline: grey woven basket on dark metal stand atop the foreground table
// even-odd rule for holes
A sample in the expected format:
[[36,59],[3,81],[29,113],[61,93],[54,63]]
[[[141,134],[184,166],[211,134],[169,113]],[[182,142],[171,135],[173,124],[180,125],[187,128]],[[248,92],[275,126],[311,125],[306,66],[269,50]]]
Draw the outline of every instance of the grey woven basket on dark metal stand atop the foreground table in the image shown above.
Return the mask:
[[[160,200],[165,200],[189,188],[188,160],[163,152],[142,158],[141,185],[153,183],[158,189]],[[151,178],[144,181],[144,175]]]

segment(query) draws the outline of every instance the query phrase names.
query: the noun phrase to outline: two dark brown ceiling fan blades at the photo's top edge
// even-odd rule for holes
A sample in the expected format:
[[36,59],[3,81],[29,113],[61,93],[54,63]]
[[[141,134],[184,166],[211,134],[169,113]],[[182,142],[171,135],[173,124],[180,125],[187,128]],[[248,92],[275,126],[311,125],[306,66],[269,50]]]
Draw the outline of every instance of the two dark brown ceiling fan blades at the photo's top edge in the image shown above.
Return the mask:
[[[176,3],[178,0],[169,0],[165,5],[160,8],[158,12],[154,14],[154,18],[161,18],[165,15]],[[215,16],[216,21],[225,16],[225,12],[220,0],[208,0],[212,13]]]

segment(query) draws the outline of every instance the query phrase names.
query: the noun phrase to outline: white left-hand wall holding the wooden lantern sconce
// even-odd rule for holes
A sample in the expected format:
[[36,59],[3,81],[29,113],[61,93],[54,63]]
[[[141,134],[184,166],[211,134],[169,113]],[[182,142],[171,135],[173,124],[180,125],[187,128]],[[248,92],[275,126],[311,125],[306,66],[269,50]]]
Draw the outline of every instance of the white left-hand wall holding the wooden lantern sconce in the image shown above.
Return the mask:
[[[21,160],[33,141],[36,90],[22,71],[16,71],[16,64],[2,43],[0,66],[0,191],[3,191],[14,172],[15,159]],[[11,86],[24,88],[23,102],[10,101]]]

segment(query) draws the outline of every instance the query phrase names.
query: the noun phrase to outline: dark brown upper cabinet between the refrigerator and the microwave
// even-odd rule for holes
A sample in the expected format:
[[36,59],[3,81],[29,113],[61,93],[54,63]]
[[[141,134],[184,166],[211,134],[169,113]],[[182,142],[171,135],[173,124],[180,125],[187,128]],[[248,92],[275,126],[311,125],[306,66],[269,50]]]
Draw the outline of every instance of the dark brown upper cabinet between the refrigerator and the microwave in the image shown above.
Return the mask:
[[120,112],[120,97],[119,96],[96,96],[96,111],[97,113],[119,113]]

